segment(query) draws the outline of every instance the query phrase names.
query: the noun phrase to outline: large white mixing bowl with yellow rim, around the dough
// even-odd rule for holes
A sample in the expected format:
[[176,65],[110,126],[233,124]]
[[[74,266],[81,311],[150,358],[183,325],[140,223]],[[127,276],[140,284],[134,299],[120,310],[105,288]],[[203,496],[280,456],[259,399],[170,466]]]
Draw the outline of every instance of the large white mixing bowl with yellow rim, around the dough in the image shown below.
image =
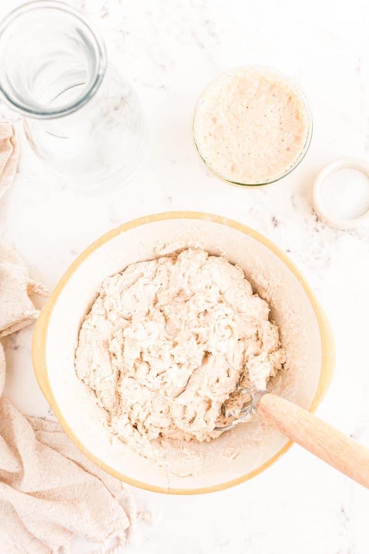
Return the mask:
[[205,493],[241,483],[268,468],[292,444],[255,417],[202,444],[209,462],[205,470],[195,477],[179,477],[134,454],[120,440],[111,440],[103,428],[102,409],[74,368],[82,319],[107,275],[186,247],[226,255],[271,303],[287,350],[288,371],[272,383],[278,394],[314,411],[329,386],[335,358],[329,324],[299,270],[273,243],[245,225],[211,214],[163,213],[126,223],[96,240],[66,271],[41,312],[32,347],[35,375],[82,452],[127,483],[170,494]]

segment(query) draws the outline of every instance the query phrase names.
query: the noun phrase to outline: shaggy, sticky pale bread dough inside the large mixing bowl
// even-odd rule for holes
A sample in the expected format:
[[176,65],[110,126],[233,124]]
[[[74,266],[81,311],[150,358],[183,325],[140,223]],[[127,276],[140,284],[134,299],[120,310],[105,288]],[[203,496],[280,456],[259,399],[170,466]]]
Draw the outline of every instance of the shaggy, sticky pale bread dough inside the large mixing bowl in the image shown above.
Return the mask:
[[189,249],[138,262],[103,281],[81,326],[76,372],[137,452],[148,455],[157,438],[211,440],[227,422],[222,404],[242,405],[244,368],[263,389],[284,363],[268,315],[225,258]]

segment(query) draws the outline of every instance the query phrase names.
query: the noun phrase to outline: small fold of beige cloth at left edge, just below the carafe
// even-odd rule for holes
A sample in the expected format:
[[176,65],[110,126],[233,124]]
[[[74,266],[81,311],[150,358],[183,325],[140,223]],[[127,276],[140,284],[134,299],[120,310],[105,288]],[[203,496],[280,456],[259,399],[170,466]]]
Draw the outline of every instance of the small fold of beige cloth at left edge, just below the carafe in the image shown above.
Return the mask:
[[0,198],[14,180],[18,156],[18,141],[13,125],[8,121],[0,121]]

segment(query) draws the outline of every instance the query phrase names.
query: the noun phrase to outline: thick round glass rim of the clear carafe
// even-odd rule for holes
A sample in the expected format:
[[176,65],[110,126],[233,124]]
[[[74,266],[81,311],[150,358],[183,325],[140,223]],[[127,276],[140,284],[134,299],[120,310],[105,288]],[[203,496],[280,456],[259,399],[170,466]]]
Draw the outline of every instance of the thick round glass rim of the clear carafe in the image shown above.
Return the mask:
[[35,119],[54,119],[56,117],[62,117],[72,112],[79,110],[80,107],[84,106],[91,98],[95,95],[97,89],[100,87],[103,77],[106,71],[106,50],[105,44],[103,41],[96,35],[95,31],[92,30],[90,25],[86,22],[84,17],[82,17],[81,12],[66,4],[64,2],[59,2],[58,0],[33,0],[32,2],[27,2],[22,4],[18,8],[15,8],[13,11],[9,12],[6,17],[0,22],[0,40],[5,30],[8,30],[9,27],[19,18],[28,14],[29,12],[36,10],[45,10],[45,9],[54,9],[59,10],[60,12],[66,14],[84,27],[86,34],[91,40],[93,49],[97,54],[97,63],[93,69],[93,74],[87,83],[82,94],[77,96],[71,102],[67,102],[63,106],[48,107],[42,106],[42,109],[32,107],[27,104],[27,102],[20,102],[12,96],[12,94],[6,90],[6,87],[3,86],[3,83],[0,81],[0,94],[3,96],[7,104],[20,112],[22,115],[28,117],[34,117]]

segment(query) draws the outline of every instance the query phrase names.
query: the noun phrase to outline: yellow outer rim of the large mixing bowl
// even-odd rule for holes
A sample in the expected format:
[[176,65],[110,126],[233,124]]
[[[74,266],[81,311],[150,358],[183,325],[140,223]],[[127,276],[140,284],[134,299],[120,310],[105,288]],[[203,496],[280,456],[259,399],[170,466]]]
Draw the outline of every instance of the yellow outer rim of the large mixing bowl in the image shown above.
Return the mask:
[[168,220],[168,219],[205,219],[205,220],[210,220],[214,223],[219,223],[221,225],[227,225],[227,227],[231,227],[233,229],[237,229],[238,231],[241,231],[242,233],[249,235],[253,239],[257,240],[258,242],[262,243],[264,246],[269,248],[269,250],[271,250],[274,254],[276,254],[278,258],[280,258],[283,261],[283,263],[288,266],[290,271],[292,271],[295,277],[299,280],[299,283],[302,285],[306,295],[308,296],[310,304],[314,309],[316,319],[318,320],[320,338],[321,338],[322,359],[321,359],[320,378],[319,378],[318,388],[316,389],[316,394],[313,399],[313,403],[309,408],[309,412],[312,412],[312,413],[315,412],[316,408],[318,408],[321,400],[325,396],[326,391],[328,390],[328,387],[330,385],[330,382],[333,376],[334,364],[335,364],[334,338],[332,335],[332,331],[330,329],[329,322],[326,319],[326,316],[323,310],[321,309],[318,300],[316,299],[308,283],[306,283],[303,275],[300,273],[297,266],[295,266],[293,261],[290,260],[288,256],[282,250],[280,250],[275,244],[273,244],[271,240],[267,239],[266,237],[263,237],[262,234],[258,233],[254,229],[251,229],[250,227],[247,227],[242,223],[238,223],[233,219],[228,219],[222,216],[216,216],[215,214],[210,214],[210,213],[164,212],[164,213],[153,214],[151,216],[141,217],[138,219],[134,219],[128,223],[124,223],[123,225],[119,225],[119,227],[116,227],[115,229],[110,230],[108,233],[102,235],[102,237],[95,240],[95,242],[93,242],[88,248],[86,248],[86,250],[84,250],[84,252],[82,252],[79,255],[79,257],[77,257],[76,260],[65,271],[63,277],[60,279],[59,283],[55,286],[53,293],[51,293],[48,301],[46,301],[46,304],[41,310],[41,314],[36,322],[34,333],[33,333],[32,362],[33,362],[35,377],[37,379],[39,387],[43,392],[46,400],[49,402],[51,409],[53,409],[53,412],[56,418],[58,418],[59,422],[61,423],[67,435],[69,435],[70,439],[81,450],[81,452],[83,452],[87,456],[87,458],[92,460],[93,463],[95,463],[99,468],[107,471],[107,473],[110,473],[111,475],[113,475],[117,479],[120,479],[121,481],[124,481],[125,483],[128,483],[133,486],[137,486],[141,489],[153,491],[155,493],[163,493],[163,494],[212,493],[215,491],[227,489],[231,486],[238,485],[239,483],[243,483],[243,481],[247,481],[248,479],[251,479],[252,477],[258,475],[259,473],[262,473],[262,471],[269,468],[269,466],[274,464],[274,462],[276,462],[283,454],[285,454],[287,450],[289,450],[289,448],[292,446],[293,442],[289,440],[284,445],[284,447],[278,450],[276,454],[274,454],[271,458],[269,458],[258,468],[252,471],[249,471],[247,474],[241,475],[236,479],[232,479],[231,481],[226,481],[225,483],[219,483],[214,486],[207,486],[204,488],[196,488],[196,489],[171,489],[169,487],[163,488],[156,485],[151,485],[149,483],[142,483],[142,481],[131,479],[127,475],[124,475],[119,471],[116,471],[115,469],[111,468],[109,465],[103,463],[100,459],[97,458],[97,456],[92,454],[84,446],[84,444],[81,443],[80,439],[74,434],[72,429],[67,424],[66,420],[63,417],[63,414],[59,409],[58,404],[55,401],[54,395],[51,391],[51,387],[48,379],[48,372],[46,368],[46,338],[47,338],[49,320],[50,320],[51,314],[53,313],[55,304],[58,301],[61,291],[64,289],[64,286],[66,285],[67,281],[69,281],[71,276],[74,274],[76,269],[90,254],[92,254],[92,252],[95,252],[95,250],[100,248],[103,244],[107,243],[112,238],[116,237],[118,234],[130,229],[133,229],[135,227],[139,227],[139,225],[144,225],[147,223],[153,223],[153,222]]

